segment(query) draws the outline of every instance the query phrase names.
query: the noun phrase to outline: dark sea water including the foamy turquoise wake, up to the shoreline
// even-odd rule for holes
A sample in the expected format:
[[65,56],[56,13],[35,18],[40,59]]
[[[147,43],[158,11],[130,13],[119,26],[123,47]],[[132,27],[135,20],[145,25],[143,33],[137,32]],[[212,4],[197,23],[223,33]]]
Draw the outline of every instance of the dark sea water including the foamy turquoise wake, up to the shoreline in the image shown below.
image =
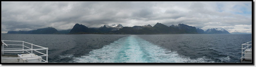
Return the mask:
[[49,63],[237,63],[252,34],[1,34],[1,40],[48,47]]

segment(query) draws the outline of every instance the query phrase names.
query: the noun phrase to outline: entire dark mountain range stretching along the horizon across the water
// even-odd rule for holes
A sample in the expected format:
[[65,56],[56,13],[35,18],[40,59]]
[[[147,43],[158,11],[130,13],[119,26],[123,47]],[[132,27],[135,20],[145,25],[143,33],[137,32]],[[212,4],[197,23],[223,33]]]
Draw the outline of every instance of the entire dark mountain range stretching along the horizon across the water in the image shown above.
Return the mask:
[[82,24],[75,24],[72,29],[57,31],[57,29],[48,27],[32,31],[8,31],[7,34],[230,34],[224,29],[196,29],[196,27],[186,24],[166,26],[156,23],[153,27],[148,24],[144,26],[123,27],[121,24],[109,24],[100,28],[89,28]]

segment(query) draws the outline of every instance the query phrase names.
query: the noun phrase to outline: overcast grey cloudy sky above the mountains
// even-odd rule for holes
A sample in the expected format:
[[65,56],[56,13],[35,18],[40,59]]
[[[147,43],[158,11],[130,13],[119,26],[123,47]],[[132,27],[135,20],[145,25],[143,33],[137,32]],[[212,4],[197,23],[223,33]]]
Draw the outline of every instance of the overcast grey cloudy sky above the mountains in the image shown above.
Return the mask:
[[251,33],[252,1],[1,2],[1,33],[47,27],[61,31],[76,23],[99,28],[105,24],[154,26],[157,22]]

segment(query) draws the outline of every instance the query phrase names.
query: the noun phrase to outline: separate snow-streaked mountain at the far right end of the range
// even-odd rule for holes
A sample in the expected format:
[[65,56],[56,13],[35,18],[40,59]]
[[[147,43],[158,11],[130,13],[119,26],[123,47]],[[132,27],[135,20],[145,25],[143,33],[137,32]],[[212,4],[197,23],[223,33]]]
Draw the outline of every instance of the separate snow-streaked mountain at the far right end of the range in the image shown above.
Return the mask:
[[225,29],[212,28],[204,31],[204,34],[230,34],[230,33]]

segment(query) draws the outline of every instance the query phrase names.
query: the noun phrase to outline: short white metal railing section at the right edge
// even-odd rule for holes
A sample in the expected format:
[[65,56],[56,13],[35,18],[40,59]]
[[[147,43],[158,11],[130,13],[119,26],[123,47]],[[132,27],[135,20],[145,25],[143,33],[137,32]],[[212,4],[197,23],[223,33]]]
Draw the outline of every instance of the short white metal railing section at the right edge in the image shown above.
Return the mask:
[[[244,52],[245,50],[252,50],[252,44],[249,44],[249,43],[252,43],[252,41],[242,44],[242,57],[241,57],[241,61],[243,59],[245,59],[245,58],[252,59],[251,57],[245,57],[245,54],[252,54],[252,53],[245,53]],[[244,47],[243,45],[246,45],[246,47]]]

